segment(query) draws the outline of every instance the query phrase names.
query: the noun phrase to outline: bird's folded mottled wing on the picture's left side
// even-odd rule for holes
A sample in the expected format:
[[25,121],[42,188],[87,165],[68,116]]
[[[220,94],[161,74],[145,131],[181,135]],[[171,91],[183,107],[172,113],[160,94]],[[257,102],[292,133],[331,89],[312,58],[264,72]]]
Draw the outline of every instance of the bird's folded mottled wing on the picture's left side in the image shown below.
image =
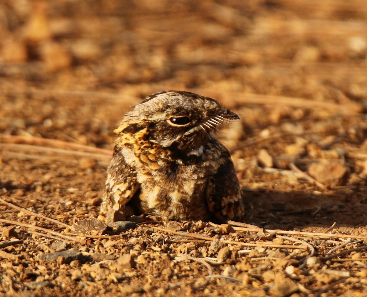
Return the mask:
[[101,212],[106,213],[109,209],[119,211],[130,201],[138,191],[139,186],[136,171],[126,163],[123,154],[115,146],[115,151],[107,170]]

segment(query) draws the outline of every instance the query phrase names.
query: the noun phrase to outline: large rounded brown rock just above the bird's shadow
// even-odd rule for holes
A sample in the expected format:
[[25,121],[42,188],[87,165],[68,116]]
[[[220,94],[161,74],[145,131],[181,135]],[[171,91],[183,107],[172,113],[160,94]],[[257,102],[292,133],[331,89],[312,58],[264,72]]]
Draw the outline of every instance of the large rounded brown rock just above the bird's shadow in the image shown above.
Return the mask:
[[327,186],[341,186],[347,169],[333,161],[312,164],[308,173],[317,181]]

